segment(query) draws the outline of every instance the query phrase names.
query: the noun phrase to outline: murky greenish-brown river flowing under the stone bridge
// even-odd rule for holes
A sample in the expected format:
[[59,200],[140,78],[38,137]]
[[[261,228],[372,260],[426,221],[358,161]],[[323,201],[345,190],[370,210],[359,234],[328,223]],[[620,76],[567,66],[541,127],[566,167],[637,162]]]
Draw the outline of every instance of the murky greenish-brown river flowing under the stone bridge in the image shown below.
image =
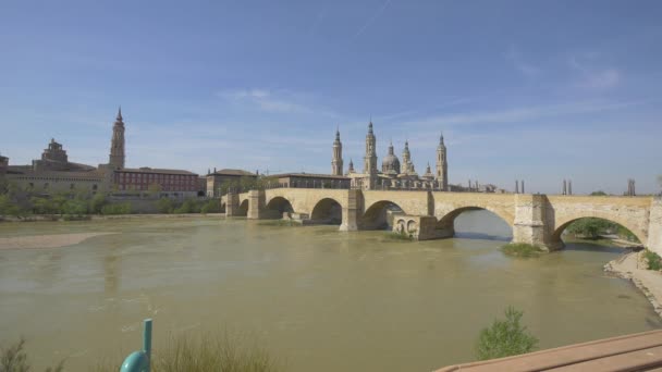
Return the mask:
[[0,250],[0,345],[33,365],[120,362],[154,319],[180,333],[248,333],[289,371],[430,371],[474,359],[480,328],[513,305],[549,348],[659,328],[629,282],[602,271],[616,248],[571,244],[504,256],[510,227],[461,214],[457,238],[282,227],[222,218],[0,224],[0,236],[117,232],[49,249]]

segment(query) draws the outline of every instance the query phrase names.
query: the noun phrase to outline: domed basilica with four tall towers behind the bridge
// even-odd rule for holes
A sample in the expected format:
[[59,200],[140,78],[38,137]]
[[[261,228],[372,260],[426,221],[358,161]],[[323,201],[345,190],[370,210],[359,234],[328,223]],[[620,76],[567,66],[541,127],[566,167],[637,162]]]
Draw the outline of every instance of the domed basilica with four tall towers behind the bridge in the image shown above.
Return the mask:
[[[350,161],[346,176],[351,178],[352,188],[361,189],[429,189],[429,190],[449,190],[449,163],[446,160],[446,147],[443,142],[443,135],[439,138],[437,147],[437,164],[436,172],[432,173],[430,164],[426,169],[426,173],[418,175],[412,161],[409,153],[409,144],[405,141],[405,148],[402,152],[402,163],[397,159],[393,150],[393,144],[389,145],[387,156],[381,163],[381,171],[377,165],[377,138],[372,129],[372,122],[368,124],[368,134],[366,136],[366,153],[364,156],[364,169],[361,173],[354,170],[353,161]],[[336,176],[343,175],[343,159],[342,159],[342,142],[340,140],[340,132],[335,132],[335,140],[333,141],[333,158],[331,160],[332,174]]]

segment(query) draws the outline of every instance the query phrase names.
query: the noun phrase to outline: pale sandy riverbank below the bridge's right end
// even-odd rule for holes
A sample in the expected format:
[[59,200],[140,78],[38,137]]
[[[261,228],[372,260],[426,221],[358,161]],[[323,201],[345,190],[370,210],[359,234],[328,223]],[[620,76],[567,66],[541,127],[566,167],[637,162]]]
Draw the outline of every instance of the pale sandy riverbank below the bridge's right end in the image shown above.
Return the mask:
[[662,273],[645,269],[641,255],[643,250],[610,261],[604,265],[604,271],[630,280],[648,298],[658,315],[662,317]]

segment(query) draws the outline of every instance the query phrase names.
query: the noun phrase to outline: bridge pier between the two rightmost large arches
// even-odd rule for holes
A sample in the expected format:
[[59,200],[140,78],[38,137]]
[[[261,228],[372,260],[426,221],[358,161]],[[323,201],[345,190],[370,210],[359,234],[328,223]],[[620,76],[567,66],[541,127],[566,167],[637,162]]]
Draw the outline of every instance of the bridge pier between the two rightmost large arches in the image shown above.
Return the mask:
[[515,195],[513,243],[530,244],[548,251],[563,248],[563,243],[551,241],[547,206],[548,200],[544,195]]

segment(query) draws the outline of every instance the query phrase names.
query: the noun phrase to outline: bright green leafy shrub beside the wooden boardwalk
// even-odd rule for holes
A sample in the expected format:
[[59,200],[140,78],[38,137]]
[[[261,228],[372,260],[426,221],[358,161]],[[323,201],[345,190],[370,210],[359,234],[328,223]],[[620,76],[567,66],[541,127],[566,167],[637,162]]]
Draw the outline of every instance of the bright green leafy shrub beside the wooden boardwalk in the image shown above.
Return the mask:
[[490,327],[480,331],[476,354],[479,360],[517,356],[532,351],[538,345],[525,325],[519,322],[523,311],[508,307],[505,320],[495,320]]

